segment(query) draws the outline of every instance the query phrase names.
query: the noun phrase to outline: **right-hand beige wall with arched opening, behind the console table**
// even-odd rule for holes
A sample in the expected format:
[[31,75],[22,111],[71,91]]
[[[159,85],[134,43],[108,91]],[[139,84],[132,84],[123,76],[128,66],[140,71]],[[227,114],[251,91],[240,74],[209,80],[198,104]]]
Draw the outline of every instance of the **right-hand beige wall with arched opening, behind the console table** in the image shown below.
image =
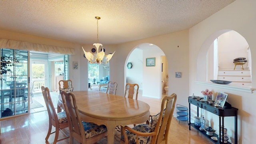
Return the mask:
[[[202,96],[200,93],[206,88],[216,92],[228,94],[228,102],[233,107],[238,108],[238,144],[253,144],[256,133],[256,112],[254,104],[256,102],[255,92],[242,92],[238,88],[214,87],[210,85],[199,85],[195,81],[205,80],[205,54],[215,38],[226,30],[234,30],[241,34],[248,42],[252,54],[252,88],[256,88],[256,1],[236,0],[229,6],[213,14],[206,20],[190,28],[190,95],[193,93]],[[229,54],[227,54],[229,56]],[[194,107],[192,107],[194,110]],[[202,111],[204,117],[209,121],[209,125],[218,128],[218,116],[214,116],[206,111]],[[195,115],[195,112],[193,113]],[[234,118],[225,118],[224,127],[228,128],[228,136],[234,142]]]

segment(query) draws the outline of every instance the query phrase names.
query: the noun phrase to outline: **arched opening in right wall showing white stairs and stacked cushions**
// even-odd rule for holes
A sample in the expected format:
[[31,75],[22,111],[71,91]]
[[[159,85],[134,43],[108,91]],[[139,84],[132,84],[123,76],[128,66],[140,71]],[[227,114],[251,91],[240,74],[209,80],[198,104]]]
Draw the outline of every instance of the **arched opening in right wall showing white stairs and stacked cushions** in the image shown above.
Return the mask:
[[[236,51],[238,50],[235,49],[235,46],[232,46],[232,41],[231,41],[230,45],[226,45],[226,47],[229,47],[232,49],[225,50],[225,47],[223,47],[222,45],[222,47],[219,48],[220,50],[219,54],[214,55],[214,40],[216,40],[216,38],[219,38],[219,40],[222,40],[220,42],[222,42],[223,44],[223,40],[225,40],[225,38],[228,41],[229,40],[228,38],[230,38],[231,40],[231,38],[234,38],[234,37],[242,41],[243,43],[241,46],[241,50],[243,50],[242,52],[240,51],[240,53],[237,53]],[[233,40],[233,41],[234,41],[234,44],[238,43],[236,42],[236,40]],[[225,57],[225,54],[222,54],[221,52],[222,53],[225,52],[226,57]],[[218,56],[220,56],[220,58],[218,58]],[[217,80],[218,70],[219,71],[230,70],[234,72],[234,64],[232,63],[232,61],[234,58],[237,58],[237,57],[246,57],[246,60],[248,60],[248,62],[244,64],[244,70],[249,70],[247,72],[250,73],[249,75],[250,75],[250,81],[251,81],[251,76],[252,76],[251,75],[251,64],[252,64],[251,53],[250,53],[250,47],[248,46],[248,43],[245,40],[245,38],[234,30],[220,30],[218,32],[213,33],[204,41],[204,43],[200,48],[200,51],[198,52],[197,81],[210,82],[210,80],[212,79]],[[217,66],[215,64],[216,70],[214,70],[213,68],[214,61],[218,62]],[[236,67],[236,70],[239,70],[239,68],[241,68],[240,65]],[[225,80],[225,79],[218,78],[218,80]],[[251,82],[249,82],[247,83],[247,85],[244,85],[244,84],[243,86],[241,85],[241,87],[248,87],[248,84],[251,86]],[[237,85],[237,82],[232,82],[230,86],[240,86],[240,85]]]

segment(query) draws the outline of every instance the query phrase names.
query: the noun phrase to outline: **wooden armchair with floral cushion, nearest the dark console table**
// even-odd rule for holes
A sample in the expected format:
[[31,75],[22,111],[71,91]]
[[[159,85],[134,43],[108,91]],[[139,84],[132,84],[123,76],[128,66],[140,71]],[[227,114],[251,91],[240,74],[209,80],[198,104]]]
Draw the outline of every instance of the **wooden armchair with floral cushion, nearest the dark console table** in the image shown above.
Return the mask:
[[[165,96],[162,100],[160,113],[150,116],[148,124],[140,124],[134,128],[124,126],[122,128],[124,136],[121,140],[124,140],[125,144],[132,142],[136,142],[136,144],[168,144],[168,132],[176,99],[176,94]],[[126,130],[128,131],[126,132]]]

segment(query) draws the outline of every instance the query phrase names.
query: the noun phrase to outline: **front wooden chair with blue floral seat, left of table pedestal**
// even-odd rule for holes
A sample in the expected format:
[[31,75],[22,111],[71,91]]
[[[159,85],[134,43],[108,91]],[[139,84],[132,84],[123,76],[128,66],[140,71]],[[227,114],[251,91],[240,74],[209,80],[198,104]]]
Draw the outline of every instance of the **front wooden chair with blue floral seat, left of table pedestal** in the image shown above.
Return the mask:
[[68,118],[70,144],[74,139],[82,144],[94,144],[107,136],[107,128],[104,125],[98,126],[92,122],[84,122],[80,118],[76,105],[75,95],[70,92],[61,92],[62,101]]

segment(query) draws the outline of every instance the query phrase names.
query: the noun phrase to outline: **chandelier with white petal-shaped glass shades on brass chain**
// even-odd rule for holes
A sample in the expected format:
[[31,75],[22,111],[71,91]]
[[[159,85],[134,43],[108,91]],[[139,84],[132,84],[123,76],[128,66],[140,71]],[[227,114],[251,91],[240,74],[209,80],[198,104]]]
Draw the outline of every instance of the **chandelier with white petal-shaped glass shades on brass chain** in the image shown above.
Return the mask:
[[[97,62],[97,64],[99,64],[99,63],[100,64],[101,63],[108,63],[108,61],[112,58],[112,56],[114,55],[114,53],[116,51],[114,51],[113,54],[105,55],[105,52],[104,52],[105,50],[102,47],[102,44],[98,43],[99,42],[99,38],[98,38],[98,20],[100,19],[100,17],[99,16],[95,16],[95,19],[97,20],[97,43],[94,43],[93,45],[96,47],[97,54],[96,54],[96,56],[94,56],[94,54],[92,54],[90,52],[86,52],[83,47],[82,47],[82,49],[84,50],[85,57],[87,58],[87,60],[90,63],[95,63],[95,62]],[[99,52],[99,47],[100,46],[102,47],[101,52]],[[105,61],[103,61],[104,59],[105,59]]]

